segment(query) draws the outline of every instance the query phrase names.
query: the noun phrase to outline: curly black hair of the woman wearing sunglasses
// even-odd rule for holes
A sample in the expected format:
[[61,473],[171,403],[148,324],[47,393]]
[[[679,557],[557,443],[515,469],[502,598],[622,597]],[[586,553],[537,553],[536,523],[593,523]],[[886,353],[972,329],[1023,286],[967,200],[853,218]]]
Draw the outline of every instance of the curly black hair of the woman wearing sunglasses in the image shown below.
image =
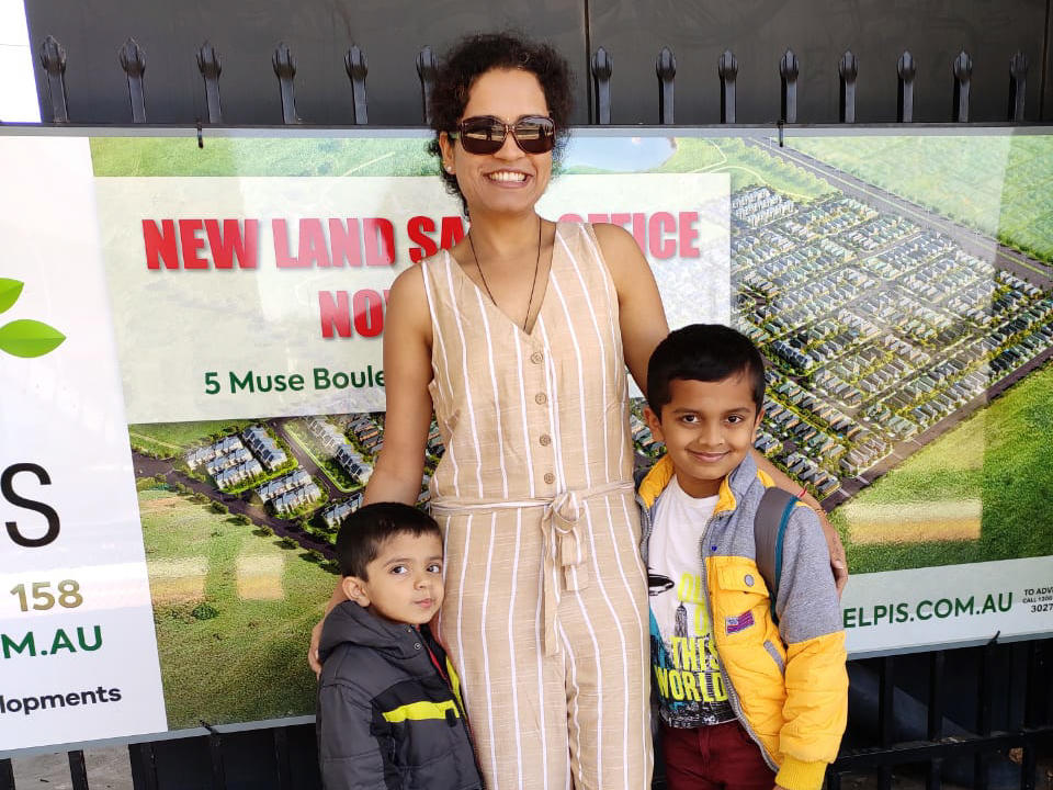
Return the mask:
[[556,123],[556,147],[552,151],[554,163],[559,161],[570,134],[568,124],[574,110],[574,77],[566,58],[548,44],[535,43],[508,31],[479,33],[463,38],[446,53],[435,76],[429,106],[435,137],[428,144],[428,153],[438,158],[439,176],[446,191],[461,199],[465,214],[468,205],[457,185],[457,178],[442,167],[439,135],[456,129],[468,103],[472,84],[492,69],[520,69],[537,78],[545,93],[548,114]]

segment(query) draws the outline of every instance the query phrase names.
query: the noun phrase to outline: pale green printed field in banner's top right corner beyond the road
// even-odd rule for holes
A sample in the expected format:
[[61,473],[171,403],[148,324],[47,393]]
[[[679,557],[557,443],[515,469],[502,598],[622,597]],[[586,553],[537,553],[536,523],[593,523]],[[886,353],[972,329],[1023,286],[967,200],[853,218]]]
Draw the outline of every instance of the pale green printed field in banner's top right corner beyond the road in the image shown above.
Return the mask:
[[1053,262],[1053,137],[795,137],[788,145]]

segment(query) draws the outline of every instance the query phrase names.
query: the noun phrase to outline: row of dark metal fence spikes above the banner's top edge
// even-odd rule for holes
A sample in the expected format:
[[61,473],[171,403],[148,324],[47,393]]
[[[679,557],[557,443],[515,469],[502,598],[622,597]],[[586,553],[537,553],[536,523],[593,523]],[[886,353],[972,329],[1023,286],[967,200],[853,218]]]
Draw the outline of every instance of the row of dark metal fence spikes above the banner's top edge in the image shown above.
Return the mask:
[[[204,82],[206,119],[188,119],[186,123],[197,122],[223,124],[223,103],[220,101],[219,82],[223,75],[223,59],[216,48],[205,42],[195,54],[197,69]],[[47,36],[41,45],[41,65],[45,74],[46,108],[50,111],[50,121],[54,123],[76,122],[69,117],[66,90],[66,50],[53,36]],[[128,100],[132,106],[132,122],[147,123],[146,112],[146,53],[136,43],[128,38],[117,53],[117,63],[124,70],[128,83]],[[296,111],[296,57],[285,44],[279,44],[271,56],[271,66],[278,79],[279,95],[282,106],[282,122],[285,124],[304,124],[309,120],[302,119]],[[1028,58],[1018,52],[1008,64],[1007,74],[1009,88],[1007,95],[1006,121],[1022,123],[1024,120],[1024,95],[1028,78]],[[353,99],[353,123],[365,125],[369,123],[369,99],[366,93],[366,78],[369,63],[365,53],[358,46],[348,49],[344,56],[344,69],[348,74]],[[792,49],[786,49],[779,60],[778,77],[781,84],[780,92],[780,123],[794,124],[797,122],[797,80],[801,76],[801,61]],[[589,117],[591,123],[605,125],[611,123],[611,84],[614,80],[614,61],[610,53],[599,47],[590,61],[591,105]],[[417,56],[417,75],[421,86],[421,120],[428,123],[428,99],[431,87],[434,84],[438,71],[438,60],[430,47],[424,47]],[[675,99],[677,58],[668,47],[663,47],[655,63],[655,72],[658,77],[658,114],[657,121],[661,125],[676,123]],[[846,52],[837,65],[839,82],[838,123],[856,123],[856,92],[859,81],[859,59]],[[892,64],[886,71],[892,79]],[[910,123],[914,121],[914,83],[917,76],[917,66],[909,52],[899,55],[895,64],[897,79],[896,121]],[[949,93],[952,97],[949,121],[952,123],[969,123],[970,87],[973,75],[973,59],[969,53],[962,50],[948,64],[947,79]],[[735,121],[735,81],[738,76],[738,60],[731,50],[724,52],[716,63],[716,76],[721,86],[721,123],[734,124]],[[774,79],[775,74],[772,74]],[[876,79],[876,77],[875,77]]]

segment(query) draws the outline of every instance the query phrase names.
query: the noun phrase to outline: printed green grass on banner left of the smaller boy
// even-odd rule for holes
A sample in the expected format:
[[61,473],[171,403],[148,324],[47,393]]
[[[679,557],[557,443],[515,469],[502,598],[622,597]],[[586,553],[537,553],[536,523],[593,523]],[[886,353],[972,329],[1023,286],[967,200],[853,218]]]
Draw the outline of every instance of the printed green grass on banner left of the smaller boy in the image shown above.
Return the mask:
[[186,497],[139,508],[169,727],[314,712],[305,650],[336,577]]

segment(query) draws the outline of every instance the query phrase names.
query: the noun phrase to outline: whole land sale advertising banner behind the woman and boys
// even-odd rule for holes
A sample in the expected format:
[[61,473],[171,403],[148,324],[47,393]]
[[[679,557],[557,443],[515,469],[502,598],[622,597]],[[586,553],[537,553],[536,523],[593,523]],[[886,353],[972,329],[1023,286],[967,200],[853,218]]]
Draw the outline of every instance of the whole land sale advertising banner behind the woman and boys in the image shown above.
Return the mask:
[[[1053,631],[1053,136],[678,135],[578,134],[539,211],[622,225],[671,327],[761,349],[757,448],[842,534],[850,652]],[[0,749],[313,713],[388,290],[469,227],[423,146],[0,136]]]

